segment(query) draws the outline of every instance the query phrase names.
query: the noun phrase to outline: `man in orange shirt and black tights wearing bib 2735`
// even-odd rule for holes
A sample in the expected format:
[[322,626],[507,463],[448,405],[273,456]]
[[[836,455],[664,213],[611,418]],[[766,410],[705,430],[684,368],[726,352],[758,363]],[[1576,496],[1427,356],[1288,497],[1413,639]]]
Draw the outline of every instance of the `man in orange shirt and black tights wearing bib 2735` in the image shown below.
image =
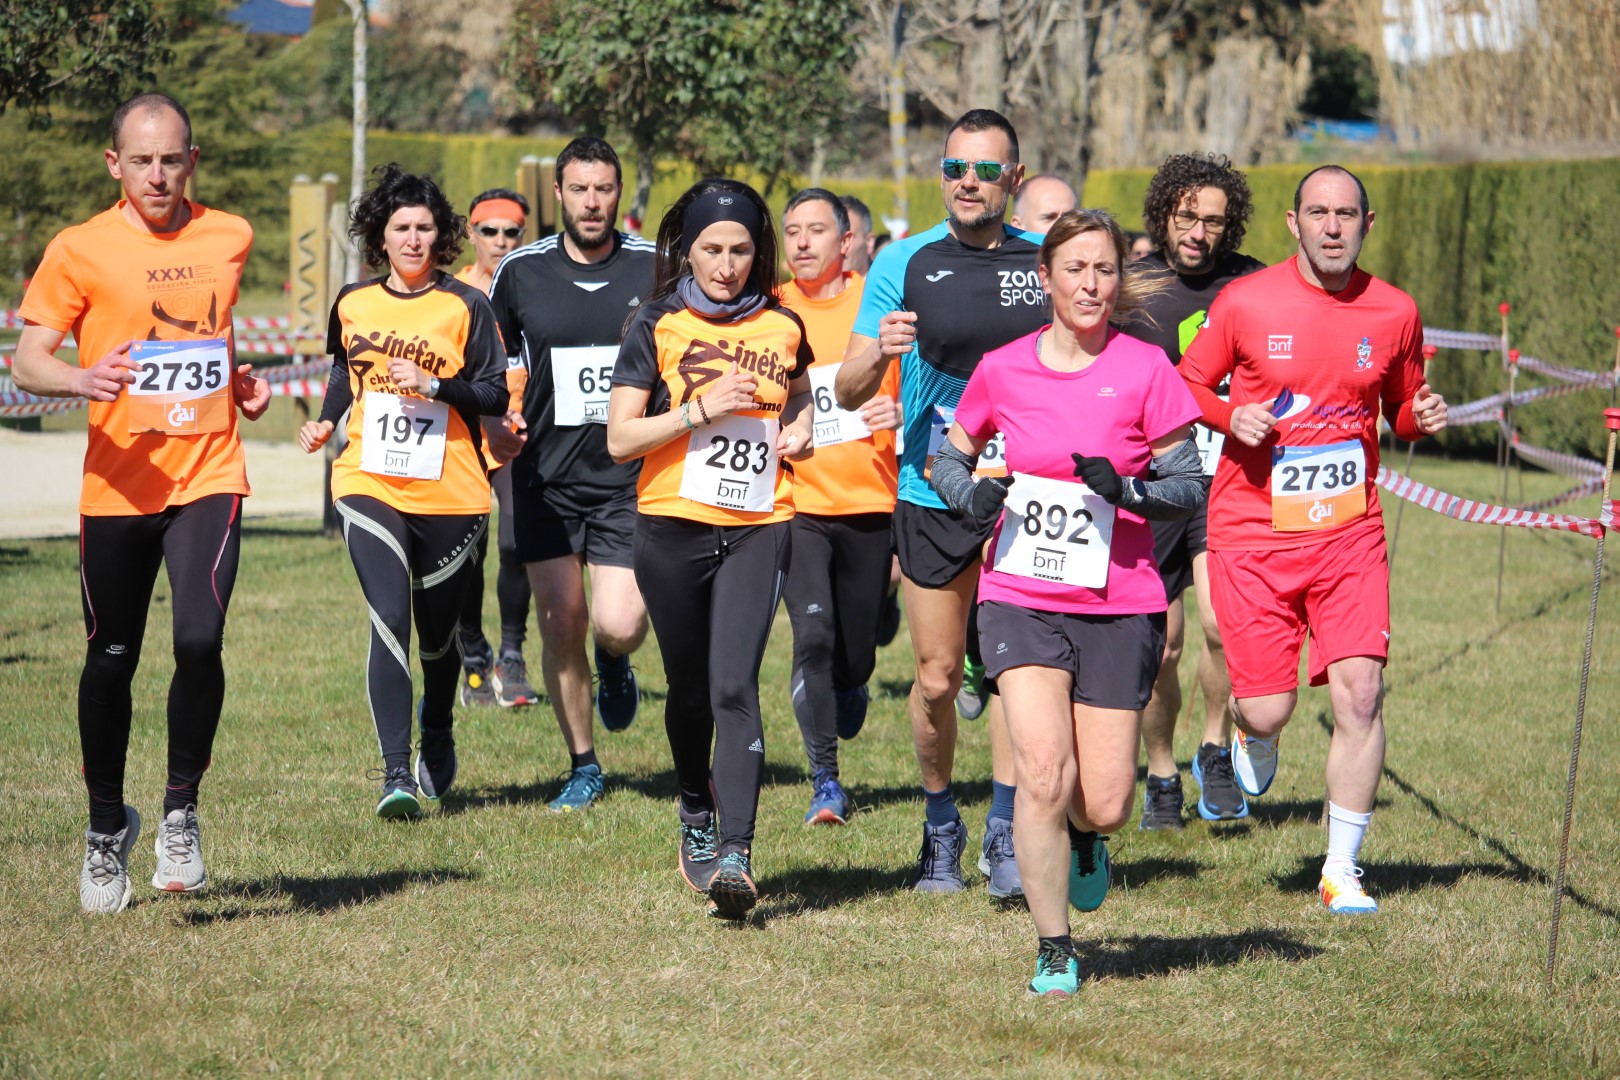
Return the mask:
[[[164,94],[125,102],[105,159],[123,198],[52,240],[23,300],[13,363],[21,389],[89,402],[79,499],[86,913],[122,912],[131,895],[141,818],[123,801],[130,683],[159,565],[173,596],[175,675],[152,886],[207,884],[198,785],[225,699],[220,653],[248,494],[237,410],[258,419],[271,402],[269,385],[235,366],[232,340],[253,230],[185,198],[198,164],[186,110]],[[78,364],[57,358],[68,332]]]

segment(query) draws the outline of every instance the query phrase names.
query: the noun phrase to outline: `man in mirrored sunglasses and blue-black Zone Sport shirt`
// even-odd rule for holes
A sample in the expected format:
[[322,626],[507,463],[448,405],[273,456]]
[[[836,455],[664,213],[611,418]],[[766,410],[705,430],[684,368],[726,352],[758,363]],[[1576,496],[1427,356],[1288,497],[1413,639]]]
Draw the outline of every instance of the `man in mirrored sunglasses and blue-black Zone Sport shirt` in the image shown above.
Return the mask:
[[[901,361],[904,453],[894,538],[917,675],[912,740],[927,800],[915,887],[957,892],[967,829],[951,792],[956,695],[962,687],[967,620],[988,528],[944,507],[928,486],[930,460],[967,377],[985,353],[1045,325],[1048,298],[1035,274],[1040,236],[1003,222],[1024,178],[1017,133],[1001,113],[975,108],[944,139],[940,191],[946,220],[883,248],[872,264],[836,393],[860,408]],[[982,474],[1004,474],[993,450]],[[980,870],[998,900],[1022,895],[1013,852],[1013,751],[998,703],[990,709],[993,800]]]

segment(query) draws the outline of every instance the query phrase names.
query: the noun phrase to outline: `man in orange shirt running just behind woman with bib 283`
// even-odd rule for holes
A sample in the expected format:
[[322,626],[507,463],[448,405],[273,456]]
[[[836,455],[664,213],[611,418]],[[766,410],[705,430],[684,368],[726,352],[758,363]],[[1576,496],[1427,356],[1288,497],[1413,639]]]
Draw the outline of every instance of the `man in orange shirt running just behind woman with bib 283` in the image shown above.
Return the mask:
[[810,758],[805,821],[844,824],[838,740],[867,722],[867,680],[878,659],[878,625],[889,588],[889,518],[894,512],[894,427],[899,366],[881,392],[846,413],[833,382],[860,309],[865,279],[844,269],[849,215],[838,196],[807,188],[782,210],[794,277],[782,304],[805,324],[816,403],[815,453],[794,468],[794,559],[782,599],[794,625],[792,701]]

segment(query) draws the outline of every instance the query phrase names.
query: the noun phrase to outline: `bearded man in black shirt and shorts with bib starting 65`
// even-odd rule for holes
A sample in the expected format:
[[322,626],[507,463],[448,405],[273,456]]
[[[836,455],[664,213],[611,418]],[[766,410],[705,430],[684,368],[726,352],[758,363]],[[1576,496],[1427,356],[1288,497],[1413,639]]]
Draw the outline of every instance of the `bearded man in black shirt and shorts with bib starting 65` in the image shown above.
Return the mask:
[[526,372],[512,517],[539,607],[541,674],[569,750],[567,779],[549,806],[569,813],[603,793],[586,631],[603,727],[627,729],[642,701],[630,670],[630,654],[646,638],[646,606],[632,570],[640,463],[612,460],[606,421],[619,335],[653,290],[654,248],[614,230],[624,183],[619,155],[601,139],[578,138],[562,149],[552,191],[562,235],[507,256],[492,303],[509,371]]

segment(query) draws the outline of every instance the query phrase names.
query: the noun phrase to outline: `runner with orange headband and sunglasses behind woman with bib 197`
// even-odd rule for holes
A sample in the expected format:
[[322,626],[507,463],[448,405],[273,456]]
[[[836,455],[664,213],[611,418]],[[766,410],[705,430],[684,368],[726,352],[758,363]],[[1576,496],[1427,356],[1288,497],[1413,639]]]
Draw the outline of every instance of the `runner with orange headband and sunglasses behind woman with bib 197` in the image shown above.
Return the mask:
[[[467,210],[467,236],[473,241],[473,261],[462,267],[455,280],[471,285],[488,295],[494,285],[496,267],[523,238],[523,222],[528,220],[528,199],[509,188],[484,191]],[[522,364],[507,364],[509,411],[523,406],[523,384],[528,372]],[[496,604],[501,609],[501,654],[489,648],[484,636],[484,562],[489,557],[489,529],[478,538],[478,573],[467,586],[462,602],[462,704],[502,704],[507,708],[535,704],[539,695],[528,683],[528,664],[523,661],[523,638],[528,630],[528,576],[517,557],[517,541],[512,536],[512,470],[504,468],[522,449],[522,440],[501,419],[486,418],[484,450],[491,465],[489,487],[501,507],[496,551]]]

